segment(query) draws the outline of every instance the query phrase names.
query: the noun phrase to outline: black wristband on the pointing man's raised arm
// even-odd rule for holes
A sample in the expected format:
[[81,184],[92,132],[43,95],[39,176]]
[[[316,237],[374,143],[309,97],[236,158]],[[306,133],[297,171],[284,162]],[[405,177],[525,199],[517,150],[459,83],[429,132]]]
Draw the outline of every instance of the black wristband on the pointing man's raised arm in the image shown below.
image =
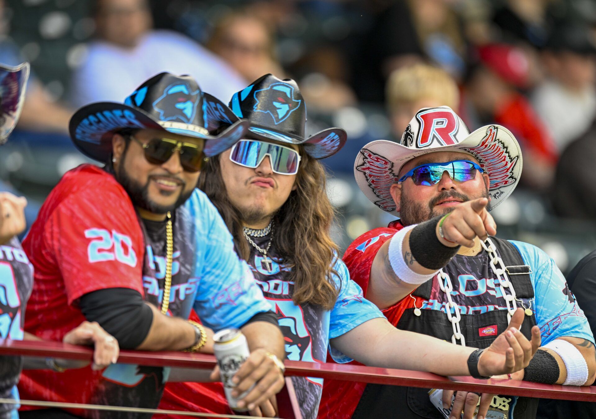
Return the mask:
[[443,215],[439,215],[424,221],[410,232],[409,245],[412,257],[427,269],[437,270],[444,267],[460,249],[460,246],[450,248],[439,242],[436,228],[442,217]]

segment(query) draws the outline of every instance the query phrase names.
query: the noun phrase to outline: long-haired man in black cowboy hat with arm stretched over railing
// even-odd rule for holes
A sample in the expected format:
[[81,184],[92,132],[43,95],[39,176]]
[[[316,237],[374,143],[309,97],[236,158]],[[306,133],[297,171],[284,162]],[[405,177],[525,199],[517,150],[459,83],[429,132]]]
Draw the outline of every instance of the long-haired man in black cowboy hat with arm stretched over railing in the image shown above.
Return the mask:
[[[318,161],[339,151],[346,133],[331,128],[306,138],[306,107],[293,80],[267,74],[235,93],[231,109],[234,113],[215,107],[207,111],[228,123],[246,118],[249,132],[229,151],[209,159],[198,186],[219,209],[238,251],[274,305],[288,359],[325,362],[329,349],[337,362],[356,359],[367,365],[456,376],[479,376],[476,367],[481,375],[490,376],[529,362],[540,339],[537,329],[531,342],[519,333],[521,312],[512,320],[513,333],[501,336],[478,358],[479,352],[472,348],[395,329],[362,297],[330,238],[334,210]],[[515,366],[511,359],[507,367],[505,359],[513,349],[522,348],[524,355],[520,353]],[[315,418],[322,380],[292,377],[292,381],[303,417]],[[177,407],[200,409],[200,390],[192,386],[187,390],[182,396],[185,402]],[[170,391],[179,398],[183,392],[181,387]],[[255,413],[271,416],[274,409],[264,403]]]

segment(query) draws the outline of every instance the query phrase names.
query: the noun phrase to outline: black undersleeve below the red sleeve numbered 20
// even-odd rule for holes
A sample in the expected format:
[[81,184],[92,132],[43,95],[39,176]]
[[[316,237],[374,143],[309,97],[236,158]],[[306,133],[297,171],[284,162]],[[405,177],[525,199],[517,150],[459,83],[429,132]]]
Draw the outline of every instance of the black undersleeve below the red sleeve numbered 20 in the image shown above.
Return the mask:
[[141,294],[129,288],[107,288],[83,295],[80,310],[118,340],[120,349],[141,345],[153,322],[153,312]]

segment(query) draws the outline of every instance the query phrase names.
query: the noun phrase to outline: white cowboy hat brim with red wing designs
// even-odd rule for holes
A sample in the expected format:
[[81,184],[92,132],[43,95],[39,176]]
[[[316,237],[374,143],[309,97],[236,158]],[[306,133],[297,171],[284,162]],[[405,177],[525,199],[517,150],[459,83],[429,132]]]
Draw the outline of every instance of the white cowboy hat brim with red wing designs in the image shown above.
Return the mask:
[[399,217],[389,190],[393,183],[398,182],[403,165],[414,157],[444,151],[463,152],[476,157],[489,176],[491,208],[511,195],[519,182],[522,151],[510,130],[499,125],[479,128],[455,145],[434,148],[412,149],[387,140],[370,142],[356,157],[354,177],[360,190],[373,204]]

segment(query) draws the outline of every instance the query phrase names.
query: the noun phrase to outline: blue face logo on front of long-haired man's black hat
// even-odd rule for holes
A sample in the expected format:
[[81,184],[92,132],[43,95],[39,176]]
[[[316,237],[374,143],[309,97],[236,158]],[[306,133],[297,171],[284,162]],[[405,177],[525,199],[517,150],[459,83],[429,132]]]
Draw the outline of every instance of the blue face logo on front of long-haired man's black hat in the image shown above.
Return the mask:
[[294,87],[286,83],[274,83],[266,89],[256,90],[254,99],[254,111],[270,114],[275,125],[285,121],[302,103],[294,99]]

